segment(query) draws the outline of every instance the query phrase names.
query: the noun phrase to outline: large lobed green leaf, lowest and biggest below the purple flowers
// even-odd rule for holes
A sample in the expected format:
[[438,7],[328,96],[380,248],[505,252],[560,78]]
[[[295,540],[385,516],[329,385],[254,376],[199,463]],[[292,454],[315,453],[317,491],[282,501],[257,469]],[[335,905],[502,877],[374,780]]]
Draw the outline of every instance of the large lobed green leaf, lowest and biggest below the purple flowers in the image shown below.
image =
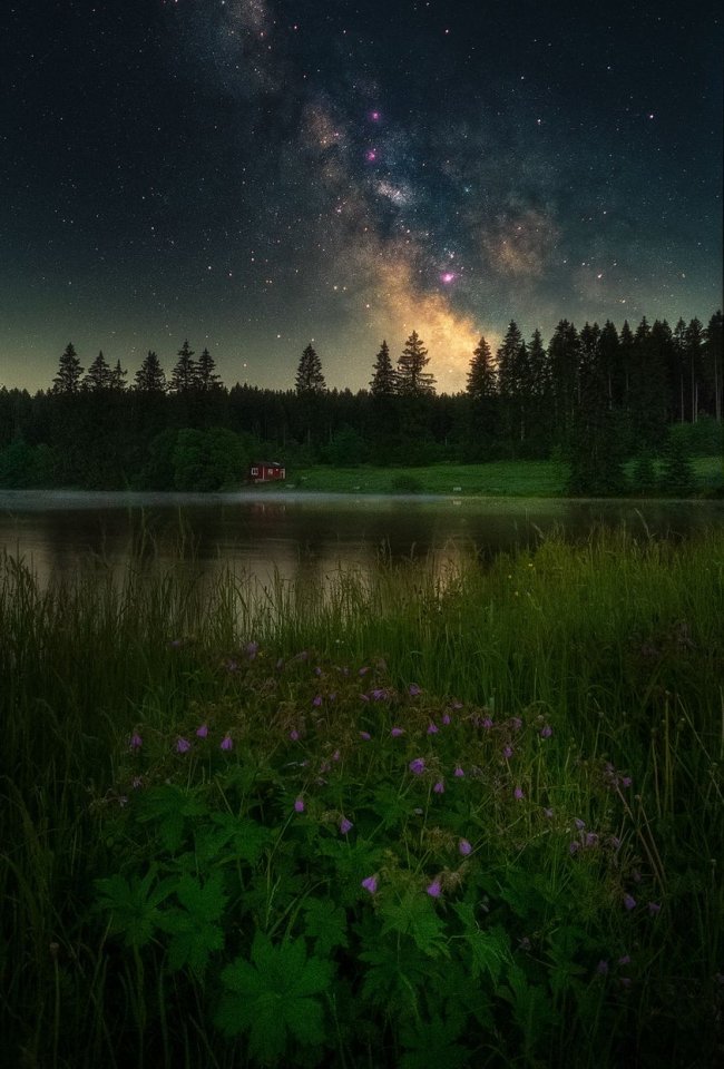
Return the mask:
[[323,1042],[323,1008],[315,996],[331,981],[331,963],[307,958],[303,939],[274,944],[257,932],[251,961],[237,958],[222,972],[226,991],[216,1023],[227,1036],[247,1032],[250,1058],[273,1062],[290,1033],[299,1043]]

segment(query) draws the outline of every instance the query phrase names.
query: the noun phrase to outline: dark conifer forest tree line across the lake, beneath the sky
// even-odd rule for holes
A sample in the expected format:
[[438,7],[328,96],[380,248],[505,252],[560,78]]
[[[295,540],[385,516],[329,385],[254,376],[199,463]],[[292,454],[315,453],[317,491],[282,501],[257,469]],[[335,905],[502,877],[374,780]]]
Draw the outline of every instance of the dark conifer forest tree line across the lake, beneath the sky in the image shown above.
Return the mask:
[[415,331],[395,361],[382,342],[369,388],[355,393],[327,389],[311,343],[290,390],[227,389],[208,350],[196,356],[188,341],[168,376],[148,351],[131,382],[102,352],[86,370],[69,343],[47,391],[0,389],[0,484],[213,490],[239,484],[253,459],[294,468],[560,457],[571,492],[619,492],[630,457],[646,469],[673,439],[721,449],[722,318],[674,328],[643,318],[620,331],[561,320],[547,345],[511,322],[495,352],[480,339],[458,394],[436,392]]

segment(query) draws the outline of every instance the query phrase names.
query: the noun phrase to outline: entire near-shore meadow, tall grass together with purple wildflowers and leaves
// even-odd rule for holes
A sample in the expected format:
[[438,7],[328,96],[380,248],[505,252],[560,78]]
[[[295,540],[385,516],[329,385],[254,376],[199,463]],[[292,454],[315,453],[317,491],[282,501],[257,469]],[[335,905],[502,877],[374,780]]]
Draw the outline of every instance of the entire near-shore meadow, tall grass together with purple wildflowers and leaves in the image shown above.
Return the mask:
[[3,1063],[715,1065],[723,619],[721,529],[327,588],[6,557]]

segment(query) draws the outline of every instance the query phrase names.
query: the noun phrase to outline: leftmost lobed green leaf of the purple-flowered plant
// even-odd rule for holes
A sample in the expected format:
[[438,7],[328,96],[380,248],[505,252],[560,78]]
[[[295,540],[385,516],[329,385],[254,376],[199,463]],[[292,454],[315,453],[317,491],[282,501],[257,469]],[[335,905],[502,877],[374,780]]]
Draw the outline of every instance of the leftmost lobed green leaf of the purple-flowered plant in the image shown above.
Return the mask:
[[140,949],[160,926],[158,909],[174,887],[173,880],[156,882],[156,870],[148,870],[143,880],[126,880],[119,873],[95,881],[98,892],[96,909],[110,913],[109,932],[123,935],[127,947]]

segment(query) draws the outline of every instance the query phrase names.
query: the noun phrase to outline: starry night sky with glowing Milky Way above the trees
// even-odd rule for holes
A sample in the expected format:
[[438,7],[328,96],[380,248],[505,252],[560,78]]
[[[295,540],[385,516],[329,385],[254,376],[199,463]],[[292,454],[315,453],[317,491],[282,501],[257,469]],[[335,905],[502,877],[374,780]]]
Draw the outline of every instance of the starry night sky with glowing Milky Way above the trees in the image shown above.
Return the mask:
[[440,392],[515,318],[722,303],[710,0],[6,0],[0,384],[72,341],[129,381],[188,337],[227,385]]

